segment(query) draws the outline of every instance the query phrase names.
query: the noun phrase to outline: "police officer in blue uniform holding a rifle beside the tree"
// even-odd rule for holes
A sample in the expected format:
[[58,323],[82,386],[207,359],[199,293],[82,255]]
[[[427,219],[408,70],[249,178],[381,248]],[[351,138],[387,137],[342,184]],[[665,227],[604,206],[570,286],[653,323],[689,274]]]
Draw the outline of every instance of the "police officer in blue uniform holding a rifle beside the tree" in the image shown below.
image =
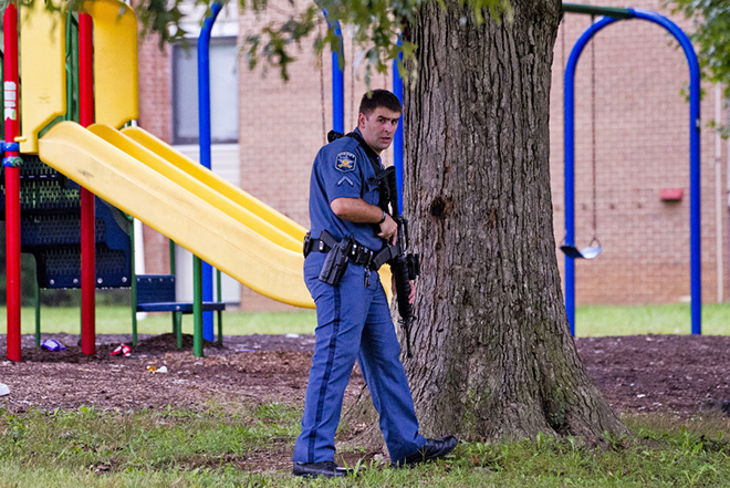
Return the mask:
[[[418,433],[400,345],[372,263],[372,256],[386,239],[395,240],[398,230],[378,207],[375,177],[383,168],[379,154],[393,143],[400,114],[400,102],[393,93],[375,90],[365,94],[357,129],[324,146],[314,159],[304,280],[316,304],[317,326],[302,433],[294,446],[296,476],[347,475],[334,461],[334,437],[355,360],[379,414],[394,466],[436,459],[457,445],[452,436],[427,439]],[[350,262],[336,284],[323,282],[320,274],[327,253],[348,238],[357,252],[348,255]],[[411,301],[413,295],[411,287]]]

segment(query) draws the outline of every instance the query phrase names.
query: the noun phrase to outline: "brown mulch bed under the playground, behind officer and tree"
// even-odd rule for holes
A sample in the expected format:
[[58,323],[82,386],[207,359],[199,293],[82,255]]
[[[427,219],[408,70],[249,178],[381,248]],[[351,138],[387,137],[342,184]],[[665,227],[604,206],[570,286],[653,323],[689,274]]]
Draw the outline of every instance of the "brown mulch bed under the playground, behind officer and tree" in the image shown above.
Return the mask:
[[[0,383],[10,395],[0,408],[97,409],[286,403],[302,407],[314,347],[313,335],[251,335],[226,338],[225,346],[205,344],[205,357],[192,355],[192,338],[176,347],[173,334],[140,336],[132,356],[109,353],[127,335],[98,335],[96,354],[85,356],[77,335],[44,334],[66,345],[50,352],[22,338],[21,363],[0,360]],[[611,405],[623,414],[668,413],[691,417],[699,412],[730,416],[730,338],[634,335],[577,339],[588,374]],[[6,355],[0,335],[0,357]],[[167,373],[149,370],[166,366]],[[352,404],[364,385],[355,370],[346,391]],[[258,469],[289,469],[290,448],[252,460]],[[375,453],[368,453],[368,457]],[[354,460],[354,459],[353,459]],[[351,461],[353,461],[351,460]],[[257,470],[258,470],[257,469]]]

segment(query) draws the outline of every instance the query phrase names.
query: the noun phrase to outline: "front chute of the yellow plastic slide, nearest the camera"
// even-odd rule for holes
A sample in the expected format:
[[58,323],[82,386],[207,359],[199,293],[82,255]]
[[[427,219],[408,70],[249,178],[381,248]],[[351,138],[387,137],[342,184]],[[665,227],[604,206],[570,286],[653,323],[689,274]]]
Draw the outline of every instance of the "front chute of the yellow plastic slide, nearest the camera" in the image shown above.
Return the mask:
[[62,122],[49,131],[40,141],[39,156],[253,291],[314,308],[302,278],[301,250],[274,243],[191,187],[175,183],[79,124]]

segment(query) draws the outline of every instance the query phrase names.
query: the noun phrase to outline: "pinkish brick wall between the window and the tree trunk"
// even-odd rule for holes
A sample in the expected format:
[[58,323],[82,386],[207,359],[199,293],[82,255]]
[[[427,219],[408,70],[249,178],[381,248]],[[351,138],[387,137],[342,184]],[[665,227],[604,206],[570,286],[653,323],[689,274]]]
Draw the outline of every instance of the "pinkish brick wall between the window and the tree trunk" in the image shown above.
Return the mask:
[[[286,9],[286,7],[282,7]],[[260,18],[241,15],[241,38],[275,20],[278,12]],[[345,58],[353,59],[345,29]],[[313,38],[302,43],[296,61],[284,82],[277,69],[250,71],[244,58],[239,70],[241,188],[291,219],[309,227],[309,190],[312,162],[325,144],[332,122],[332,61],[328,50],[320,58]],[[362,80],[353,85],[352,65],[345,68],[345,131],[356,126],[359,98],[367,90]],[[362,76],[361,76],[362,79]],[[389,87],[389,76],[378,76],[373,87]],[[354,95],[353,95],[354,93]],[[354,110],[353,110],[354,106]],[[324,118],[324,120],[323,120]],[[384,155],[392,162],[392,150]],[[241,307],[247,310],[286,310],[286,305],[242,289]]]

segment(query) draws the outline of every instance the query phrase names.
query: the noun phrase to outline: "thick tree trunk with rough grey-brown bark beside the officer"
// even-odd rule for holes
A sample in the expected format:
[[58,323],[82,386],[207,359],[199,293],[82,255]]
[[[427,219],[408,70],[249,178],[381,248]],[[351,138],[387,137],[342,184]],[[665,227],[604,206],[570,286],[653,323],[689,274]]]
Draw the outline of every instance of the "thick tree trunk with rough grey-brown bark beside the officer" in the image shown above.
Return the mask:
[[404,101],[404,214],[423,266],[404,364],[421,430],[602,444],[626,427],[570,335],[553,237],[549,102],[561,3],[512,0],[513,23],[481,25],[447,3],[427,4],[413,27],[418,79]]

